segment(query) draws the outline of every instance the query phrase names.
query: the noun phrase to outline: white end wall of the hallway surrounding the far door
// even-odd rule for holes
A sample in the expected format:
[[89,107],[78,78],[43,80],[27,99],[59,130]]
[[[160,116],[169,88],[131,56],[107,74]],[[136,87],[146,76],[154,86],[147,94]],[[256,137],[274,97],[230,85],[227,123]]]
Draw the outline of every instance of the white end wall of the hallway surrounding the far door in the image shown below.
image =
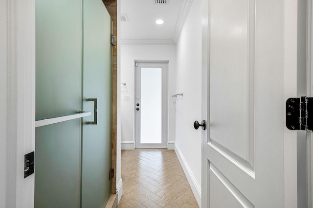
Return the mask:
[[[175,140],[176,46],[121,45],[121,149],[134,149],[134,60],[168,60],[168,141]],[[129,96],[129,101],[124,101]]]

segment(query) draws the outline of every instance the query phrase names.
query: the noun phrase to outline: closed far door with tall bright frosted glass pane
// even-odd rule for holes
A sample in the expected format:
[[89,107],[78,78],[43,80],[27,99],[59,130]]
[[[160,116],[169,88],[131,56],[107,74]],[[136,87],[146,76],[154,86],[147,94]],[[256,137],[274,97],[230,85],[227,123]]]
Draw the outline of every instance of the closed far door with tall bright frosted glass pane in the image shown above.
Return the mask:
[[166,75],[166,62],[135,62],[135,148],[167,147]]

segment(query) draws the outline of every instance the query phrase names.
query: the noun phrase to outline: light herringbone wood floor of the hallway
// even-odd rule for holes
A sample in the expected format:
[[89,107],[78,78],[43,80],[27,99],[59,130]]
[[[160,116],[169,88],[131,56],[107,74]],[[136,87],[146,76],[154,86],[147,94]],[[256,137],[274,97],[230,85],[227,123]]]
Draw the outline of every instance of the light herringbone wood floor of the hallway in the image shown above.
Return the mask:
[[199,208],[174,150],[122,150],[118,208]]

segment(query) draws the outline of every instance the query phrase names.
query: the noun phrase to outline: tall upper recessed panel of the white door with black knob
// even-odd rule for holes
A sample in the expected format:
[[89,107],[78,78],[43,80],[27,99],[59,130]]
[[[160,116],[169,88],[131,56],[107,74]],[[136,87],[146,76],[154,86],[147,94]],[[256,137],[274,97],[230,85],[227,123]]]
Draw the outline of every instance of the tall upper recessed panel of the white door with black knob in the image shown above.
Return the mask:
[[254,154],[254,15],[254,0],[211,1],[210,138],[248,161]]

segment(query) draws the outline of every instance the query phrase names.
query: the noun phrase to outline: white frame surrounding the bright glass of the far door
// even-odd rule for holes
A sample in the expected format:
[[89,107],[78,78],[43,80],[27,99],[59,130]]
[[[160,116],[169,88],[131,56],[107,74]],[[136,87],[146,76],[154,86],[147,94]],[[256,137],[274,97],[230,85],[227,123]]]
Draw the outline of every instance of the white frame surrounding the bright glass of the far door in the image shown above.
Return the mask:
[[[147,61],[147,60],[135,60],[135,84],[134,84],[134,141],[135,148],[167,148],[168,141],[168,60],[160,61]],[[140,94],[140,89],[137,87],[137,82],[140,82],[140,76],[137,70],[140,67],[162,67],[162,144],[140,144],[140,111],[136,111],[137,94]],[[139,98],[140,100],[140,98]],[[140,106],[139,106],[140,108]]]

